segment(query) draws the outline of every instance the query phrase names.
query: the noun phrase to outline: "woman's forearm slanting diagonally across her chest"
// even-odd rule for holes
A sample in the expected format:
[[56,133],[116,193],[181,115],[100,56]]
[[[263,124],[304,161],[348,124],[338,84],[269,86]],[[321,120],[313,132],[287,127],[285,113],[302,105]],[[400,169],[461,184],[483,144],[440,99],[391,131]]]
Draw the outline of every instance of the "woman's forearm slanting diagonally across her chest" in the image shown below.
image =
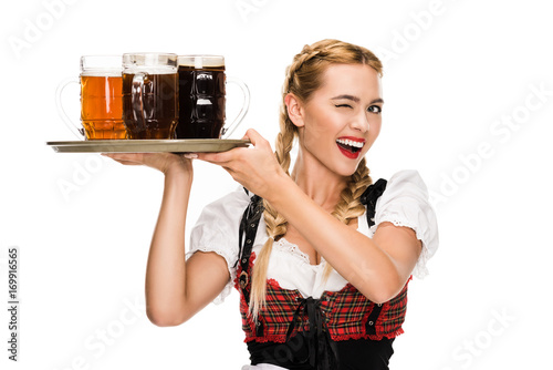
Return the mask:
[[374,239],[315,204],[290,177],[282,176],[267,201],[368,299],[386,301],[405,285],[408,269],[398,266]]

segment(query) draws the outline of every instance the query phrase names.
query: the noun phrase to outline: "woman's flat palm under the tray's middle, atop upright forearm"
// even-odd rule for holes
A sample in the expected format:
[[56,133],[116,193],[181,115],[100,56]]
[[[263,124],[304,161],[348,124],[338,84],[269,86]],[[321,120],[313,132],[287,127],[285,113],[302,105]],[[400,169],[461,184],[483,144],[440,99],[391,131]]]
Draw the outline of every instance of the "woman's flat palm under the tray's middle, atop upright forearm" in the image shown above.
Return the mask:
[[124,165],[145,165],[163,172],[179,172],[191,175],[192,164],[189,158],[173,153],[102,153]]

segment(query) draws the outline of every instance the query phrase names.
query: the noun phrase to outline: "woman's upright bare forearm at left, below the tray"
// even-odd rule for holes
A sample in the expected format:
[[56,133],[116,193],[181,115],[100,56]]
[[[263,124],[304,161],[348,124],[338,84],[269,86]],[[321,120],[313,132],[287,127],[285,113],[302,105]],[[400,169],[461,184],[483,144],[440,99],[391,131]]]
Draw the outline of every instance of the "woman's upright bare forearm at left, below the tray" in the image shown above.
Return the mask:
[[185,224],[192,174],[168,172],[146,268],[146,311],[157,325],[171,325],[185,305]]

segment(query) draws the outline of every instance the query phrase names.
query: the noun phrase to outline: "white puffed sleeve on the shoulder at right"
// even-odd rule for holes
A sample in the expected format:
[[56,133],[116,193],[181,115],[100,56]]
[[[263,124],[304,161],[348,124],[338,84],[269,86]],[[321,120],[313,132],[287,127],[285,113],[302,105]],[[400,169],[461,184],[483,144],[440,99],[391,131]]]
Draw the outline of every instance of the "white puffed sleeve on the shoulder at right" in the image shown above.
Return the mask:
[[413,228],[422,243],[422,251],[414,275],[428,275],[426,264],[438,249],[438,224],[430,204],[428,189],[417,171],[400,171],[393,175],[386,191],[376,202],[374,233],[384,222]]

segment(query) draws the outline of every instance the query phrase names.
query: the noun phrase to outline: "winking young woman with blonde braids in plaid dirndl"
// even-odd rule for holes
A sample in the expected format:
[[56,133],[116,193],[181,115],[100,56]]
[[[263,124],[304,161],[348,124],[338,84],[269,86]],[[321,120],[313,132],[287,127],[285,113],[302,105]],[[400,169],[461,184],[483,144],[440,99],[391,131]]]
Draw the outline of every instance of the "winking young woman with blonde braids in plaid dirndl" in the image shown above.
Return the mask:
[[[249,148],[109,155],[165,174],[146,271],[154,323],[179,325],[234,286],[251,354],[244,370],[388,369],[407,284],[438,234],[417,172],[369,186],[380,76],[371,51],[323,40],[288,69],[274,153],[249,130]],[[185,263],[191,158],[222,166],[243,188],[205,207]]]

